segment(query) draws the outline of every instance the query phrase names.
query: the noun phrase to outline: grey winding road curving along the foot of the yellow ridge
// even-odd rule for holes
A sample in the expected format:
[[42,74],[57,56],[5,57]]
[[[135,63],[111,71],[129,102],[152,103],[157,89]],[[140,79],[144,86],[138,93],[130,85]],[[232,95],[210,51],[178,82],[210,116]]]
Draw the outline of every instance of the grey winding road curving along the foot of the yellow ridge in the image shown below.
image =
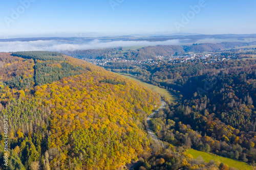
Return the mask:
[[[160,142],[162,148],[165,148],[163,142],[156,136],[156,134],[155,134],[155,133],[151,130],[151,128],[150,128],[150,120],[152,119],[152,117],[154,117],[154,115],[159,112],[159,109],[164,109],[165,106],[166,106],[166,103],[165,103],[163,100],[161,100],[161,102],[162,102],[162,103],[161,103],[161,106],[160,106],[156,111],[154,111],[153,113],[151,113],[151,114],[147,117],[147,119],[146,119],[146,124],[147,124],[147,125],[146,125],[146,129],[147,129],[148,135],[151,135],[152,138],[153,138],[153,140],[154,140],[155,142]],[[133,164],[133,165],[129,168],[129,170],[134,169],[136,166],[138,166],[139,163],[140,163],[140,162],[138,161],[138,162],[136,162],[135,164]]]

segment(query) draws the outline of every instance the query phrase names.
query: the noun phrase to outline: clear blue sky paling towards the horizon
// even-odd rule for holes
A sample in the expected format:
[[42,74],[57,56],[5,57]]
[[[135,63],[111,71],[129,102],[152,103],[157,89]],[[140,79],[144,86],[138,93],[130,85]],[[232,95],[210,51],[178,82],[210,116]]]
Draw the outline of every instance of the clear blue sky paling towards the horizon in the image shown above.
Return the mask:
[[[190,8],[200,4],[195,12]],[[255,7],[255,0],[2,0],[0,38],[252,34],[256,33]]]

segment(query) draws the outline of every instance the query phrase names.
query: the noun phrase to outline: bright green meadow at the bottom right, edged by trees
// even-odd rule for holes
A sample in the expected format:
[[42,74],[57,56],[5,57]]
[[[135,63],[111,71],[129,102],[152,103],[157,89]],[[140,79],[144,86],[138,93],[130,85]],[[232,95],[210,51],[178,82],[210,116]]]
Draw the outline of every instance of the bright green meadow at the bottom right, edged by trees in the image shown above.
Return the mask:
[[238,168],[238,169],[243,169],[243,170],[251,169],[251,170],[253,170],[253,168],[245,162],[241,162],[241,161],[237,161],[237,160],[217,156],[217,155],[214,155],[214,154],[208,154],[208,153],[193,150],[193,149],[188,150],[186,153],[192,155],[194,157],[194,159],[201,156],[204,159],[204,161],[206,161],[206,162],[209,162],[210,160],[215,160],[215,161],[225,163],[228,166],[232,166],[232,167],[235,167],[235,168]]

